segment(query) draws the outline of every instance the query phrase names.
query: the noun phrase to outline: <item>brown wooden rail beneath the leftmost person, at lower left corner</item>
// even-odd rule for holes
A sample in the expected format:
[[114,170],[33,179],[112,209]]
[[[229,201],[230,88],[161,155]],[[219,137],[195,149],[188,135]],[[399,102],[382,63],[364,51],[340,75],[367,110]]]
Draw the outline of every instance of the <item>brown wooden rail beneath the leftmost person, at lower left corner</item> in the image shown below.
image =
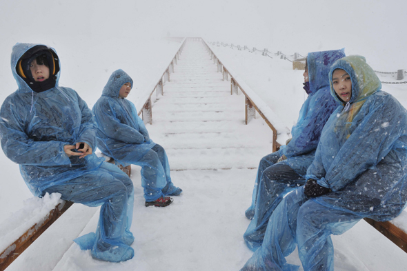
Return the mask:
[[34,224],[19,239],[14,241],[0,254],[0,271],[5,270],[29,245],[32,244],[43,232],[54,223],[73,204],[71,201],[63,201],[55,206],[42,221]]

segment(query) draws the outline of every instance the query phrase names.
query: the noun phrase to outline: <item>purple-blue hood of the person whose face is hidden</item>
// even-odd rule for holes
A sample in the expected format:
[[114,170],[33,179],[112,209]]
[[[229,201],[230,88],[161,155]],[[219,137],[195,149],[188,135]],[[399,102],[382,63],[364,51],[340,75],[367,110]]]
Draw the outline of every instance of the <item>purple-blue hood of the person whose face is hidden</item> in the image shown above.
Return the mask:
[[310,52],[307,57],[309,93],[329,86],[328,72],[332,63],[345,57],[345,49]]

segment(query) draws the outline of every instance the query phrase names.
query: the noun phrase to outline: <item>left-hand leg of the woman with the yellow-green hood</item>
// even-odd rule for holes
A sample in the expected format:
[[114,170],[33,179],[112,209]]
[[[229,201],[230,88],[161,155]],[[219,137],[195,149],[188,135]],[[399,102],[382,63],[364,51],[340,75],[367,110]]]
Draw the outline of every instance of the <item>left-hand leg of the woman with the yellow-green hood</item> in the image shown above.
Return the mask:
[[242,271],[249,270],[297,270],[286,263],[286,258],[297,245],[297,213],[308,199],[304,188],[290,192],[275,208],[268,221],[264,242],[246,262]]

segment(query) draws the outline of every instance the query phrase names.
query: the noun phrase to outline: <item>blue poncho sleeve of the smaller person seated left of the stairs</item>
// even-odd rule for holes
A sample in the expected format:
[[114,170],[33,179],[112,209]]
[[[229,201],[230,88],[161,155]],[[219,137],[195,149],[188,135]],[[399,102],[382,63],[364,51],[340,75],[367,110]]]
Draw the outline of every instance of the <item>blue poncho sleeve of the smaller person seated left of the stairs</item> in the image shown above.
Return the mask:
[[98,118],[97,123],[99,123],[99,130],[103,130],[106,136],[117,141],[131,144],[143,143],[143,134],[135,128],[121,123],[116,116],[116,112],[120,112],[121,109],[115,108],[114,101],[112,101],[112,103],[110,103],[109,98],[106,98],[99,100],[95,104],[94,110],[95,116]]

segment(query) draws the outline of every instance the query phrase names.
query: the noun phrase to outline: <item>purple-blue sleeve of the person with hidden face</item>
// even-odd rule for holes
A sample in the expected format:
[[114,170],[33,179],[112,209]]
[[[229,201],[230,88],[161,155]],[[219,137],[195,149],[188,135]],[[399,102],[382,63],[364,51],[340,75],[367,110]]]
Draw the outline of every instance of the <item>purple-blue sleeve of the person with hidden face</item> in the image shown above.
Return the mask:
[[292,127],[292,139],[281,154],[289,158],[315,150],[321,130],[336,107],[329,88],[312,93],[301,107],[297,124]]

